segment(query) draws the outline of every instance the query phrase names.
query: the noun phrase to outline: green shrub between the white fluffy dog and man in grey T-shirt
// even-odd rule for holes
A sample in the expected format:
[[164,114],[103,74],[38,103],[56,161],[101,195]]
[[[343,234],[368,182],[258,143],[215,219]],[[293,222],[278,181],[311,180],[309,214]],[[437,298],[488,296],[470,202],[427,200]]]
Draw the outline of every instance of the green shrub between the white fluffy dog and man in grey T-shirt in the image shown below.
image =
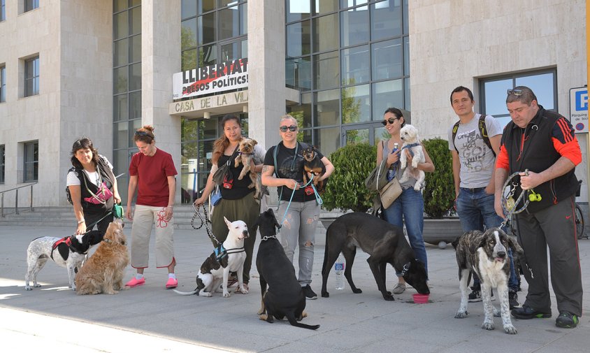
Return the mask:
[[455,199],[453,158],[446,140],[432,138],[422,143],[436,168],[434,173],[426,173],[424,212],[432,218],[442,218]]

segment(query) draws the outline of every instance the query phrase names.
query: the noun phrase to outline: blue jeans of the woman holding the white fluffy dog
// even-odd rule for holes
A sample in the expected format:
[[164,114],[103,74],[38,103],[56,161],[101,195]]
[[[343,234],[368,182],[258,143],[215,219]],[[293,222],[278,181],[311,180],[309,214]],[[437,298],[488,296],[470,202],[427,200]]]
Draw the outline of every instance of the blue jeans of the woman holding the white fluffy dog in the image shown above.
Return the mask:
[[[424,231],[424,199],[422,192],[417,192],[412,187],[404,189],[394,203],[384,210],[385,220],[394,226],[403,228],[408,232],[410,246],[414,250],[417,259],[424,263],[426,275],[428,275],[428,259],[426,259],[426,247],[422,239]],[[401,275],[396,273],[396,275]]]

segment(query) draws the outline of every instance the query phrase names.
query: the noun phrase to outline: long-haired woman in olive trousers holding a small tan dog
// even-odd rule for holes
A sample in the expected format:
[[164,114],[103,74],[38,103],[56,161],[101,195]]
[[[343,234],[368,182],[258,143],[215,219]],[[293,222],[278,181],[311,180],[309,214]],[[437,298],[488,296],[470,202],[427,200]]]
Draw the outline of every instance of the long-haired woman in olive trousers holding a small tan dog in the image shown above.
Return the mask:
[[[243,138],[240,118],[236,115],[228,114],[222,118],[221,124],[224,134],[213,145],[213,157],[211,157],[213,166],[207,178],[207,185],[203,190],[203,194],[199,199],[194,201],[194,206],[201,206],[205,203],[211,192],[213,192],[213,189],[215,189],[213,174],[215,174],[218,168],[230,162],[229,171],[231,171],[233,178],[220,185],[222,200],[215,206],[215,211],[211,215],[211,231],[213,231],[215,238],[223,243],[229,232],[223,217],[226,217],[231,222],[239,219],[247,224],[250,236],[244,242],[246,260],[244,262],[242,276],[244,288],[248,290],[247,284],[250,282],[250,268],[252,268],[252,253],[254,252],[254,243],[256,243],[256,231],[258,228],[256,222],[260,215],[260,204],[257,199],[254,199],[255,189],[248,187],[250,185],[250,178],[244,177],[242,180],[238,180],[238,175],[240,175],[244,166],[239,164],[236,167],[233,163],[233,159],[236,158],[236,150]],[[252,162],[254,165],[250,167],[250,173],[259,173],[262,171],[262,160],[264,159],[265,153],[266,151],[261,145],[254,145],[254,158]],[[217,246],[217,244],[213,243],[213,246]],[[238,278],[235,273],[232,273],[227,285],[229,287],[236,284],[236,282],[238,282]],[[239,288],[236,289],[236,293],[238,291]]]

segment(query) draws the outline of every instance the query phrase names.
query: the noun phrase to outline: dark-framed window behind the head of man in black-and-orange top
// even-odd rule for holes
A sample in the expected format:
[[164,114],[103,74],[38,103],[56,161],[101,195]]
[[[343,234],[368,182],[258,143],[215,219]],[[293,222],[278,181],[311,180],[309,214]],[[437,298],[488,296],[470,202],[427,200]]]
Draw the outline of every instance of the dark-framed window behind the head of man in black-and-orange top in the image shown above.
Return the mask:
[[480,112],[493,115],[504,127],[510,122],[506,108],[506,90],[516,86],[526,86],[535,92],[538,103],[547,110],[557,111],[557,71],[556,69],[503,75],[480,81]]

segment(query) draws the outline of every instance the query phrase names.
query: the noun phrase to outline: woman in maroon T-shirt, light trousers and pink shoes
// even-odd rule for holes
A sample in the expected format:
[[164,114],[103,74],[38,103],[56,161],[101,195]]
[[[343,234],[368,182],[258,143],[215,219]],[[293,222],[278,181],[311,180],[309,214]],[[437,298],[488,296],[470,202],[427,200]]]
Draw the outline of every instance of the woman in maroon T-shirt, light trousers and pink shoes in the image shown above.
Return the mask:
[[[156,224],[156,267],[168,268],[166,289],[176,288],[174,274],[174,222],[173,206],[176,193],[176,177],[172,156],[156,148],[154,127],[145,125],[138,129],[134,141],[139,152],[129,164],[129,192],[125,216],[133,221],[131,228],[131,267],[137,274],[125,285],[136,287],[145,284],[143,270],[147,268],[152,224]],[[135,210],[131,209],[137,191]]]

